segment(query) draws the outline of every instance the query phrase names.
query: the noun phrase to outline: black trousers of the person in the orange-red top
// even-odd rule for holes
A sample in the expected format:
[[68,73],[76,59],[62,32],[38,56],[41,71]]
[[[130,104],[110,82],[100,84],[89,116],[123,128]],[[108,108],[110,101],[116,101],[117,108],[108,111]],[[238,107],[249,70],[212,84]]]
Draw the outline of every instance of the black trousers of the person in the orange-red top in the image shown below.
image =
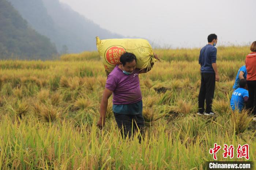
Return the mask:
[[249,98],[246,104],[246,109],[252,111],[252,113],[256,116],[256,80],[247,81]]

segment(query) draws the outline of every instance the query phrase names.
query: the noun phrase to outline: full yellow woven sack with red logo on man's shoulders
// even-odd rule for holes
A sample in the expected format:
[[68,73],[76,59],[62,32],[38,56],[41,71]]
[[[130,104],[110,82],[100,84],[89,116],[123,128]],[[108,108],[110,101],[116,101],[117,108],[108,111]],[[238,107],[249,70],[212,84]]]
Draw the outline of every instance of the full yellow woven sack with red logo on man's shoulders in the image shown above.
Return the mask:
[[156,62],[150,43],[146,39],[103,39],[96,37],[96,45],[106,73],[110,73],[120,63],[120,56],[126,52],[137,58],[136,67],[145,69]]

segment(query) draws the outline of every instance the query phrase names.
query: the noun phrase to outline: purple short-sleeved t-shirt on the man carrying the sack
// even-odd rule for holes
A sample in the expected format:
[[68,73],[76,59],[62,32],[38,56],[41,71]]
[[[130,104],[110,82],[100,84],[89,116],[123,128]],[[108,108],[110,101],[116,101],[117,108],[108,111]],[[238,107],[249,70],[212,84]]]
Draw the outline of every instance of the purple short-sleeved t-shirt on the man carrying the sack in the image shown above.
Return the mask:
[[113,104],[133,104],[142,100],[139,82],[139,69],[126,75],[118,65],[108,75],[106,86],[113,91]]

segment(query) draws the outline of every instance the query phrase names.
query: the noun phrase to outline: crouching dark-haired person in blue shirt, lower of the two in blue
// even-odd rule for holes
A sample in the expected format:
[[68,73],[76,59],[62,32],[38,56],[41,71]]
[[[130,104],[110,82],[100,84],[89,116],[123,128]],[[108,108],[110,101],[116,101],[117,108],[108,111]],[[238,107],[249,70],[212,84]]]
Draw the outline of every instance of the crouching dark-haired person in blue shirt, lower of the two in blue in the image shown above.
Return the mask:
[[234,90],[230,99],[230,106],[232,110],[238,109],[239,112],[242,111],[244,105],[247,103],[249,98],[246,79],[242,79],[239,82],[239,88]]

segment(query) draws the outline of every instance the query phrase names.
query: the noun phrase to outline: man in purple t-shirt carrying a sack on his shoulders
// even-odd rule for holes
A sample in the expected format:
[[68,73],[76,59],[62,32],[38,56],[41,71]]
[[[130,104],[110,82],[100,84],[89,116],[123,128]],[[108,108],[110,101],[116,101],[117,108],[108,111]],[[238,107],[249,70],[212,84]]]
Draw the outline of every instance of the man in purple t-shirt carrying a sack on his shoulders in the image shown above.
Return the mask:
[[[157,55],[154,58],[159,60]],[[151,70],[154,62],[146,69],[136,68],[137,58],[133,53],[124,53],[120,64],[116,65],[106,80],[103,92],[100,117],[97,123],[101,129],[105,125],[108,98],[113,93],[113,112],[123,138],[132,136],[132,132],[140,130],[143,134],[144,118],[142,116],[142,93],[140,91],[139,74]],[[141,141],[141,136],[139,136]]]

